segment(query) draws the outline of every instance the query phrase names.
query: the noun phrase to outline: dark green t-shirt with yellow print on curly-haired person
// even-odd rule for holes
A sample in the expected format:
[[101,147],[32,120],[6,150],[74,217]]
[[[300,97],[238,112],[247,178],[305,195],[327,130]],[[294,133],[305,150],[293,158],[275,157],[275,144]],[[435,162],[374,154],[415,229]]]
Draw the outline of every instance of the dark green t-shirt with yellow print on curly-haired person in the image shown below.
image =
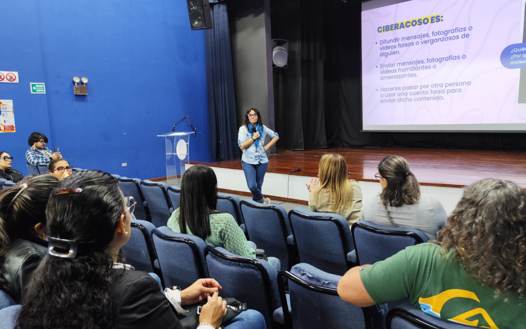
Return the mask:
[[482,286],[451,252],[423,243],[360,271],[377,304],[409,298],[412,305],[443,320],[481,328],[526,327],[526,298]]

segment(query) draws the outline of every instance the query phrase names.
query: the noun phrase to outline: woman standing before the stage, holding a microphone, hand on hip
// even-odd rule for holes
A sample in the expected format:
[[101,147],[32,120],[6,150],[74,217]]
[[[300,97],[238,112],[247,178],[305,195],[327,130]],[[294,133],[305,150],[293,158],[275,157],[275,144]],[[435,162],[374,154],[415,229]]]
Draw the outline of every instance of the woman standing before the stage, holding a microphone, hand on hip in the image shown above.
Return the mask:
[[[270,142],[264,146],[266,136],[270,137]],[[248,189],[252,192],[252,200],[270,203],[269,198],[261,194],[261,187],[268,167],[266,152],[270,146],[276,144],[279,139],[278,134],[263,125],[257,108],[249,108],[245,114],[245,123],[239,127],[237,139],[239,148],[243,151],[241,165]]]

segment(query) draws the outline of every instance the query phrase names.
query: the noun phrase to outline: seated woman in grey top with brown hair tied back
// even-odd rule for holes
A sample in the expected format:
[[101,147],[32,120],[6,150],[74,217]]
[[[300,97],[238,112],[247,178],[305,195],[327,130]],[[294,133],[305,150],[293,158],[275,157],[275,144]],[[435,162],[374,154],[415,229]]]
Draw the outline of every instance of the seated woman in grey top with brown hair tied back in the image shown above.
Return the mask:
[[436,239],[448,215],[440,201],[420,197],[420,186],[406,159],[394,155],[383,158],[375,177],[382,192],[363,205],[360,219],[378,225],[416,228]]

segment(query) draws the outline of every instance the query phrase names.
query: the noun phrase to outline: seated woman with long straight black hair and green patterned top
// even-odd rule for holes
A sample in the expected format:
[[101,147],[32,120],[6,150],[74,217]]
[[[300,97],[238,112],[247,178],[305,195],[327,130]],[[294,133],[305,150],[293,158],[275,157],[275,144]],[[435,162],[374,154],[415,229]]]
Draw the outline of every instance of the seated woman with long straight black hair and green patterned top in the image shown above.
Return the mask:
[[248,245],[234,217],[217,211],[216,206],[216,174],[204,165],[191,166],[181,180],[179,208],[171,214],[167,225],[174,232],[196,235],[209,246],[255,258],[254,248]]

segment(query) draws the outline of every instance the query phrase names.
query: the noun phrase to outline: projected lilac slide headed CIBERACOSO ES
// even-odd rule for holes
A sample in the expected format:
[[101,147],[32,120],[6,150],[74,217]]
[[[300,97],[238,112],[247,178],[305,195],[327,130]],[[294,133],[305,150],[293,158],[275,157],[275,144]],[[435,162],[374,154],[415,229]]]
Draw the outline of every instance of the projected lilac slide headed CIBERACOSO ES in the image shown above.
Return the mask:
[[526,131],[526,0],[362,12],[364,131]]

